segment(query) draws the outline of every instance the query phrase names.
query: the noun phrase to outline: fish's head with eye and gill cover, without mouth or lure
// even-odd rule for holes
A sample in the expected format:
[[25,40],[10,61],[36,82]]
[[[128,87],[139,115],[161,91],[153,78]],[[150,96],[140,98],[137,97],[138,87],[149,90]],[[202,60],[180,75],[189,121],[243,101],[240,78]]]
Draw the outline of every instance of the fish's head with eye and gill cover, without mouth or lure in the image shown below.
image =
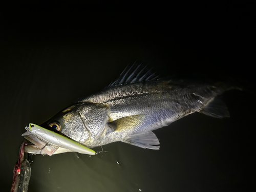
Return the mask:
[[108,109],[100,103],[75,103],[40,126],[91,146],[104,130]]

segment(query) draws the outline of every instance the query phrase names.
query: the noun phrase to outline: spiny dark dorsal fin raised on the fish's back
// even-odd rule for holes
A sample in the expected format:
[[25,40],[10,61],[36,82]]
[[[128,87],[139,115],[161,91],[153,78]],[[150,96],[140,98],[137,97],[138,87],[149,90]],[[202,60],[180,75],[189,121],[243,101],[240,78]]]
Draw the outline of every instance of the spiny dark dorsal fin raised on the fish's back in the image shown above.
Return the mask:
[[135,62],[133,65],[128,65],[120,76],[114,82],[111,82],[109,87],[116,86],[117,84],[123,83],[134,83],[134,82],[141,82],[141,81],[150,81],[155,80],[159,76],[155,75],[151,71],[152,69],[148,70],[146,66],[142,66]]

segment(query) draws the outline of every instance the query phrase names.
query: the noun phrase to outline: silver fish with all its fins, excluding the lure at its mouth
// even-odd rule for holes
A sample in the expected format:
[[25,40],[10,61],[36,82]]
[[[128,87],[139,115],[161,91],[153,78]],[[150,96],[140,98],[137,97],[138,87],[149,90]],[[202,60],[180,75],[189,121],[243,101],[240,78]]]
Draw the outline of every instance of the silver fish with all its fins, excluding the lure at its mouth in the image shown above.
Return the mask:
[[229,117],[223,92],[231,83],[190,81],[157,76],[135,63],[102,91],[84,97],[40,126],[89,148],[121,141],[159,150],[154,130],[199,112]]

